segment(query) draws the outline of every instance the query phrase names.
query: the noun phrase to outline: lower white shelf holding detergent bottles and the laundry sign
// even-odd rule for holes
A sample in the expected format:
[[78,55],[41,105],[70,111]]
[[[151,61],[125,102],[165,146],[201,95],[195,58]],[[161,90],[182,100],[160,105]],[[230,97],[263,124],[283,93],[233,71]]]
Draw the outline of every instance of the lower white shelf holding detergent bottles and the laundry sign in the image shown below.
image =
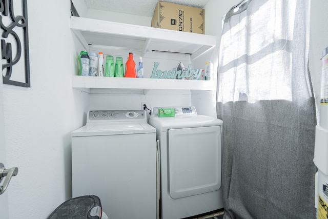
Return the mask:
[[129,77],[91,77],[72,75],[72,87],[90,92],[90,88],[107,89],[157,89],[157,90],[213,90],[213,81],[129,78]]

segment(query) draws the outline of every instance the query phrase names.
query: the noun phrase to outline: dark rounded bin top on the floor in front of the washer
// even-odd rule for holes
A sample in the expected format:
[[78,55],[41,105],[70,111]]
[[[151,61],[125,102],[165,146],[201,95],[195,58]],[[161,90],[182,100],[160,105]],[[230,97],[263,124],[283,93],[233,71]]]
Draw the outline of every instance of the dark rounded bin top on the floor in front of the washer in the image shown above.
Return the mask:
[[[91,215],[91,210],[95,215]],[[48,219],[100,219],[101,209],[100,198],[95,195],[85,195],[67,200],[59,205],[48,217]]]

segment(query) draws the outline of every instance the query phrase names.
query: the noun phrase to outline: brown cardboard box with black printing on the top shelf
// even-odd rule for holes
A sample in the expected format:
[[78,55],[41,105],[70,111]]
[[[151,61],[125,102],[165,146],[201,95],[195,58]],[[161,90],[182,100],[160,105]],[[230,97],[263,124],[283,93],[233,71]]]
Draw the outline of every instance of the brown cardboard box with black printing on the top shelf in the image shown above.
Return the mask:
[[204,34],[205,10],[158,1],[152,27]]

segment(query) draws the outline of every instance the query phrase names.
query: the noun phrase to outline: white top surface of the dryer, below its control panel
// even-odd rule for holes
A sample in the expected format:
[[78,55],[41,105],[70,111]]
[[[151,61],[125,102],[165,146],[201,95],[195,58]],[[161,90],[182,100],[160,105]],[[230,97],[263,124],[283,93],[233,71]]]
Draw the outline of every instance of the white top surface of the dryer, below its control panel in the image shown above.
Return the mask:
[[167,131],[176,128],[193,128],[193,127],[208,127],[221,126],[222,120],[206,115],[192,115],[180,117],[157,117],[151,116],[149,124],[159,131]]

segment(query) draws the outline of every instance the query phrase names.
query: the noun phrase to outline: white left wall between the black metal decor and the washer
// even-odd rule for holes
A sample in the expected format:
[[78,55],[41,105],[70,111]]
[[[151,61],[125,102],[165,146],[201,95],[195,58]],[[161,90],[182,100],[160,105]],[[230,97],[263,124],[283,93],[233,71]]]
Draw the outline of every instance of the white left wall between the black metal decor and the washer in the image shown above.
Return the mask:
[[71,197],[71,131],[88,95],[72,89],[76,51],[70,1],[28,1],[31,88],[3,86],[9,218],[47,218]]

